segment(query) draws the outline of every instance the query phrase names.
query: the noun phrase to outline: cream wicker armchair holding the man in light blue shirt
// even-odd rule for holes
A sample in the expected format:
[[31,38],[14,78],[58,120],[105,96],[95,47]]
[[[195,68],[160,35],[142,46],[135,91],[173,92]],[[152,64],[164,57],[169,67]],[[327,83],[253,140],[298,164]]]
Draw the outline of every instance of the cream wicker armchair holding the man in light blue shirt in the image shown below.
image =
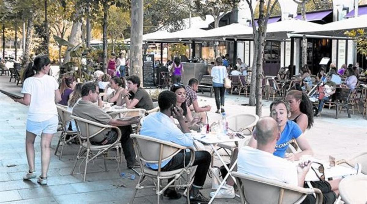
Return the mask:
[[[134,142],[135,153],[138,156],[138,161],[141,169],[141,173],[139,174],[140,177],[137,185],[135,186],[135,192],[131,198],[130,204],[134,202],[134,198],[138,189],[156,188],[157,203],[159,203],[160,195],[163,194],[164,190],[166,190],[168,187],[190,186],[190,173],[192,172],[192,165],[195,160],[195,150],[192,147],[181,146],[173,142],[163,141],[150,136],[131,134],[130,137]],[[185,168],[173,171],[161,171],[160,166],[163,161],[171,159],[176,154],[181,152],[181,150],[185,149],[189,149],[191,152],[189,164],[185,166]],[[158,163],[159,168],[157,171],[152,170],[151,168],[147,167],[145,163]],[[183,174],[186,174],[186,178],[183,177]],[[152,179],[154,185],[142,186],[142,184],[147,180],[145,179],[146,177]],[[185,184],[174,185],[174,182],[181,177],[185,179],[186,181]],[[170,181],[166,186],[161,188],[162,179],[172,179],[172,181]],[[157,183],[155,181],[157,181]],[[190,203],[189,190],[187,190],[186,193],[187,193],[187,202]]]

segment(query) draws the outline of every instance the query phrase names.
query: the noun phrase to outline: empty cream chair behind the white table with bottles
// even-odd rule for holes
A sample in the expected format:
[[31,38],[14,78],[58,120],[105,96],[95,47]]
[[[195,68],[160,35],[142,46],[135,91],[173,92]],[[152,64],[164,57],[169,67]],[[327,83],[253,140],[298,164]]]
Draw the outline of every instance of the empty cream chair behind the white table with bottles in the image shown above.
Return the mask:
[[[259,116],[247,113],[237,114],[227,118],[229,130],[241,132],[244,135],[252,135],[252,130],[254,129],[258,120]],[[236,142],[221,142],[218,143],[217,146],[223,148],[230,156],[232,155],[233,150],[235,150],[237,147],[246,145],[248,141],[249,139],[243,140],[238,144]],[[230,154],[227,152],[227,149],[230,150]]]

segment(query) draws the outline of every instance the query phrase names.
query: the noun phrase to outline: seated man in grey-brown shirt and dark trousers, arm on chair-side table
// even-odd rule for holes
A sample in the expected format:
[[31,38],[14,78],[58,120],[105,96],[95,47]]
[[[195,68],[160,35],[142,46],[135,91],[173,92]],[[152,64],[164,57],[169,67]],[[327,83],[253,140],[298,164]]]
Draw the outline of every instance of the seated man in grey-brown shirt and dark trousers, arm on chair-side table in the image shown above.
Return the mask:
[[[75,104],[72,115],[101,123],[104,125],[113,125],[121,130],[121,145],[127,161],[128,168],[139,167],[135,162],[135,152],[132,146],[130,134],[132,133],[131,124],[139,123],[140,119],[132,119],[128,121],[112,119],[109,114],[103,112],[95,103],[98,101],[99,87],[98,84],[87,82],[81,87],[81,99]],[[117,131],[107,128],[101,133],[90,138],[92,145],[108,145],[116,141]]]

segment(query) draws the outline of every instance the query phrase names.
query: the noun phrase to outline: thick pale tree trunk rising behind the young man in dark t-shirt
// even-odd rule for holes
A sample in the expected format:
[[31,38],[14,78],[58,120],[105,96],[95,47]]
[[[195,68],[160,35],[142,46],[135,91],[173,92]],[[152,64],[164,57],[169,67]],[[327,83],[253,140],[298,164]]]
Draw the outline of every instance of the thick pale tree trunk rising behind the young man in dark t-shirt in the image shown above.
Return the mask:
[[130,69],[143,81],[143,0],[131,0]]

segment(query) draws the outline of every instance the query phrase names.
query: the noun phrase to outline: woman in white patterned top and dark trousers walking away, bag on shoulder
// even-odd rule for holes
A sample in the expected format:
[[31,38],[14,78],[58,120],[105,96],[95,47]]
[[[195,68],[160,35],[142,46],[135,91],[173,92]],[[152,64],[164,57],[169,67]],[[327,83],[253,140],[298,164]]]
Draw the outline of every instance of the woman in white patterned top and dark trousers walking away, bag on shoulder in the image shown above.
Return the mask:
[[[211,76],[213,77],[213,88],[217,111],[215,113],[224,112],[224,78],[228,76],[227,68],[223,66],[221,57],[215,58],[215,66],[211,68]],[[220,108],[220,109],[219,109]]]

